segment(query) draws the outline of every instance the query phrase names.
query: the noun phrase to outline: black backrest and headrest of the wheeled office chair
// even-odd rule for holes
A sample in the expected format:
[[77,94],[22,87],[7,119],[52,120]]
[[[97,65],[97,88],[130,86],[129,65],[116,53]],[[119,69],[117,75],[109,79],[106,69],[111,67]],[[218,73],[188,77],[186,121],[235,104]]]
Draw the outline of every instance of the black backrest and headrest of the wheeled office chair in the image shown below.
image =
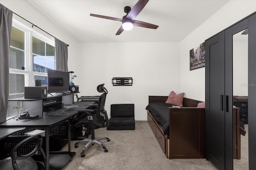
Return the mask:
[[100,93],[102,92],[103,93],[99,97],[96,116],[98,120],[104,123],[103,127],[108,127],[109,125],[108,114],[107,114],[107,111],[105,110],[105,101],[106,101],[106,96],[108,94],[108,90],[104,87],[104,84],[100,84],[97,86],[97,91]]

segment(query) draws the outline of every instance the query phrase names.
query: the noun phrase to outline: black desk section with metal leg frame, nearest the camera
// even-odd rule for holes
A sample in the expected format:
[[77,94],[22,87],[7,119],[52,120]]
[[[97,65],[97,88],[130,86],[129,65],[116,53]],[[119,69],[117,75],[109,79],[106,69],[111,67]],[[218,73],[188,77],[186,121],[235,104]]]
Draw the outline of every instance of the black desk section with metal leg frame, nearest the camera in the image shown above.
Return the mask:
[[[45,145],[46,145],[46,169],[62,169],[76,154],[76,152],[70,152],[70,121],[69,118],[78,113],[72,113],[70,115],[44,115],[36,119],[9,119],[0,123],[0,127],[26,127],[26,128],[43,128],[45,129]],[[49,152],[49,128],[57,125],[62,121],[68,121],[68,152]]]

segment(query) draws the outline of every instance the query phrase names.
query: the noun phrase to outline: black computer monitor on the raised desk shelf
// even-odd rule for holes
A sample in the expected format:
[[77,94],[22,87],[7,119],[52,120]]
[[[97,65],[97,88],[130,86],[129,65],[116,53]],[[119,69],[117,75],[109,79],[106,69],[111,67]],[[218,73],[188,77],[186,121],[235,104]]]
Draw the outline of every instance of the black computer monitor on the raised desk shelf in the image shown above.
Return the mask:
[[47,69],[48,93],[69,91],[69,72]]

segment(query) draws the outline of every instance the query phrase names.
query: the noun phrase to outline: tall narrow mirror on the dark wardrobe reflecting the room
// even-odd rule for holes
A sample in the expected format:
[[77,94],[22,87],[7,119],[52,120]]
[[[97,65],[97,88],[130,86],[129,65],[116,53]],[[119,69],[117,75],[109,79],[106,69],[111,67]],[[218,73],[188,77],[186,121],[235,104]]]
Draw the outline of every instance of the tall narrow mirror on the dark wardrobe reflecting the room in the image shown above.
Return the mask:
[[248,29],[233,35],[233,167],[248,164]]

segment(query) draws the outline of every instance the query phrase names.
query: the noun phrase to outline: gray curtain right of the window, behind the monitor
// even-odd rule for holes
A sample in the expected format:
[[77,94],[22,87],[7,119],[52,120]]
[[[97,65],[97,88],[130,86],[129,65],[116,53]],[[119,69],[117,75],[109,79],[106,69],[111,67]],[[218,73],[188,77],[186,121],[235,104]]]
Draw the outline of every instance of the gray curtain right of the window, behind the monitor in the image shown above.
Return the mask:
[[55,38],[56,70],[68,72],[68,45]]

